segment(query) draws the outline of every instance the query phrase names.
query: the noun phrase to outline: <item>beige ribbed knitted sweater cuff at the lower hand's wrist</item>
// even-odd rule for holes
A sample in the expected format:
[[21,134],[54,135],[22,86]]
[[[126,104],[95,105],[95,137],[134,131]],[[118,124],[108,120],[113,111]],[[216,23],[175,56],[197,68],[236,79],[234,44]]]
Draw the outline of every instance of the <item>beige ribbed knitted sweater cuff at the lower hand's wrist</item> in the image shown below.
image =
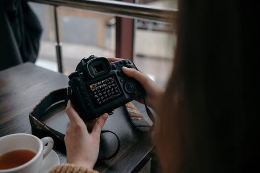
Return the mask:
[[99,173],[99,172],[75,164],[61,164],[52,168],[52,170],[49,173]]

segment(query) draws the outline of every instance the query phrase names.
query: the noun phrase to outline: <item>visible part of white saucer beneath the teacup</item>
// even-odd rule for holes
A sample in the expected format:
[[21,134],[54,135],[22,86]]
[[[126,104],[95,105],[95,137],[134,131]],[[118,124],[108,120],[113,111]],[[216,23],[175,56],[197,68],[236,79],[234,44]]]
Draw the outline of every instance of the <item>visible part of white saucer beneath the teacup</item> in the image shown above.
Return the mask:
[[55,151],[51,151],[46,158],[44,158],[42,166],[38,173],[48,173],[53,167],[59,165],[59,158]]

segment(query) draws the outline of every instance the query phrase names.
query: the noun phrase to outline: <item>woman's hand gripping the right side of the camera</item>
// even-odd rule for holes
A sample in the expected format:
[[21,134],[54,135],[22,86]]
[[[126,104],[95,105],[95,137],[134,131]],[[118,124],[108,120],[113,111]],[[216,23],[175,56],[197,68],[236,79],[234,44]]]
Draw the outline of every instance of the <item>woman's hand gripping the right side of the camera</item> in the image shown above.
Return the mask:
[[[107,59],[110,62],[123,60],[123,59],[119,59],[119,58],[107,58]],[[145,88],[146,103],[149,107],[151,107],[152,109],[154,109],[157,112],[158,101],[161,98],[164,90],[155,81],[153,81],[151,78],[149,78],[149,76],[147,76],[146,74],[144,74],[138,70],[133,69],[133,68],[127,68],[127,67],[122,68],[122,71],[124,72],[125,75],[127,75],[128,77],[134,78]],[[141,98],[137,101],[143,103],[143,100]]]

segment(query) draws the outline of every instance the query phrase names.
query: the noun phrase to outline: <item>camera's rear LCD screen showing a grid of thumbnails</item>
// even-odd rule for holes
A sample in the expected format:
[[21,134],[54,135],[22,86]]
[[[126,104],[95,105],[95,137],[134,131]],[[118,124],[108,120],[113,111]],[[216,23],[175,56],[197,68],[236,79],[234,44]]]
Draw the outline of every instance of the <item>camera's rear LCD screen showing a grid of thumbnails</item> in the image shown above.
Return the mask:
[[94,101],[93,103],[96,108],[118,98],[121,95],[116,79],[113,75],[89,85],[88,88],[90,88],[93,97],[92,100]]

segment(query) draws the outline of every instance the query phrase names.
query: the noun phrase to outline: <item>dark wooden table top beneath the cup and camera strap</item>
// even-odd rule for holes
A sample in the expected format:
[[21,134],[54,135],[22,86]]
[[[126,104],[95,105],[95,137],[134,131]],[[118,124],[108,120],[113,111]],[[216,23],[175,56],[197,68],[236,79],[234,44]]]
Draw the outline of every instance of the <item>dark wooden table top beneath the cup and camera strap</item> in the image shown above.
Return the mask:
[[[32,133],[29,112],[40,99],[52,90],[67,87],[68,77],[55,73],[32,63],[24,63],[0,71],[0,136],[12,133]],[[144,106],[134,102],[144,112]],[[58,117],[47,123],[55,130],[65,132],[68,126],[67,116],[62,110]],[[151,159],[154,145],[151,135],[133,129],[123,107],[109,116],[103,130],[111,130],[120,139],[118,154],[105,161],[98,161],[95,170],[101,173],[137,173]],[[105,133],[104,133],[105,134]],[[109,135],[106,135],[106,138]],[[101,139],[103,136],[101,137]],[[114,142],[106,143],[107,150],[115,149]],[[54,149],[60,163],[66,163],[66,155]]]

